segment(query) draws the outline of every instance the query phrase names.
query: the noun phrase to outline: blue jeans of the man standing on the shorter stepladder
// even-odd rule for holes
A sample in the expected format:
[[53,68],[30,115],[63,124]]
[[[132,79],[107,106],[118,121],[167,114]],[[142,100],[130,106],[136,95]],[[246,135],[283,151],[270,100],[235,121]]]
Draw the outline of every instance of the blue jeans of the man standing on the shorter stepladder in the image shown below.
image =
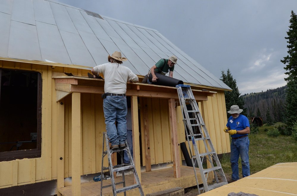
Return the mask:
[[[125,144],[127,136],[127,100],[123,96],[106,96],[103,111],[107,136],[111,145]],[[117,127],[115,125],[117,122]]]

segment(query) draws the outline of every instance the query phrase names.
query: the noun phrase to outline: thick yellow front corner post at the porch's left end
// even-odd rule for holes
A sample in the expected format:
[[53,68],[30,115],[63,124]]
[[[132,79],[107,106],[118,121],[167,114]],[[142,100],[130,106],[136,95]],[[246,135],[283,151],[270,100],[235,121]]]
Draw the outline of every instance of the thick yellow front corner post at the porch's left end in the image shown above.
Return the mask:
[[72,195],[81,195],[81,94],[72,93],[71,177]]

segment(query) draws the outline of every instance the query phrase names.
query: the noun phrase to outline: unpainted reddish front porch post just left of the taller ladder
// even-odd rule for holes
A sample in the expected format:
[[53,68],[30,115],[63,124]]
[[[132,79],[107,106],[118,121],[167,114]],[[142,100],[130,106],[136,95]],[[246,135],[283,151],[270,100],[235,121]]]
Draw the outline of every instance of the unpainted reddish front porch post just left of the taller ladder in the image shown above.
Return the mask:
[[173,154],[174,177],[180,178],[180,148],[178,147],[175,99],[169,99],[169,123],[171,128],[171,147]]

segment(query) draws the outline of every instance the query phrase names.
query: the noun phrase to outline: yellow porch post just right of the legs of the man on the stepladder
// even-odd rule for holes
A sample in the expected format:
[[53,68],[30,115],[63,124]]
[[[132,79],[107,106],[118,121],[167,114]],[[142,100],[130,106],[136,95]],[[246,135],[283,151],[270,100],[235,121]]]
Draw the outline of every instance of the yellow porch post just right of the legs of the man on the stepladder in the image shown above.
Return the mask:
[[131,117],[132,117],[133,161],[135,164],[136,172],[139,177],[139,181],[141,183],[137,96],[131,96]]

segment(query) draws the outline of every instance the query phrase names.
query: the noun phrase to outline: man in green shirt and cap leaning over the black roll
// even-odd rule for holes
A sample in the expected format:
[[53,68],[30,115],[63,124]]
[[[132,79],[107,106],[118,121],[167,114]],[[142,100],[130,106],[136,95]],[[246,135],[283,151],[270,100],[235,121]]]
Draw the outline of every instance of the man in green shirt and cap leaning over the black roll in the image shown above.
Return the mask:
[[177,57],[172,55],[169,57],[169,59],[160,59],[153,67],[150,68],[150,71],[147,75],[144,76],[142,83],[150,83],[148,80],[150,73],[152,73],[152,82],[157,81],[157,76],[155,73],[161,73],[162,75],[165,75],[169,71],[169,77],[173,77],[173,70],[174,65],[177,62]]

